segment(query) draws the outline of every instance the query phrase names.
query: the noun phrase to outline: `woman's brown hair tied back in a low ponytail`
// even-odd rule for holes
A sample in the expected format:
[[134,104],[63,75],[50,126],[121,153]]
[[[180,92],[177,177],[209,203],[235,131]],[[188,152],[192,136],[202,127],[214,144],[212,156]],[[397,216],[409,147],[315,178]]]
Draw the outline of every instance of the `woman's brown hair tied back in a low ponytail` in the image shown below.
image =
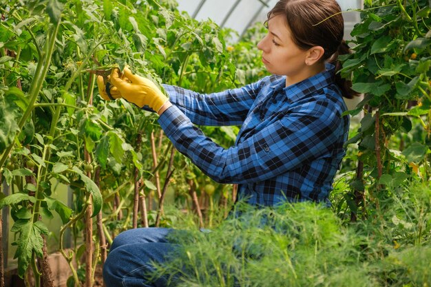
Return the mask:
[[345,98],[353,98],[357,93],[352,83],[338,71],[341,63],[338,55],[349,54],[350,48],[343,40],[344,19],[341,8],[335,0],[280,0],[268,12],[268,20],[277,15],[284,15],[291,30],[293,42],[301,49],[308,50],[321,46],[325,52],[322,57],[326,63],[335,65],[335,83]]

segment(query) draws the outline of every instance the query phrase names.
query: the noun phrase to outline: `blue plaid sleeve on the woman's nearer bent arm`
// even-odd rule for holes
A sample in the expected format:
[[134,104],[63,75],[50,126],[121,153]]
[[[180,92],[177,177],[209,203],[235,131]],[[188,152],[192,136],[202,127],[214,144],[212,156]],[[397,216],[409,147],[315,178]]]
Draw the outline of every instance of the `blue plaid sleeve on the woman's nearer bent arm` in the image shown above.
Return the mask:
[[277,116],[264,129],[224,149],[202,134],[176,106],[159,123],[178,151],[217,182],[250,183],[273,178],[330,153],[344,131],[330,100],[311,98]]

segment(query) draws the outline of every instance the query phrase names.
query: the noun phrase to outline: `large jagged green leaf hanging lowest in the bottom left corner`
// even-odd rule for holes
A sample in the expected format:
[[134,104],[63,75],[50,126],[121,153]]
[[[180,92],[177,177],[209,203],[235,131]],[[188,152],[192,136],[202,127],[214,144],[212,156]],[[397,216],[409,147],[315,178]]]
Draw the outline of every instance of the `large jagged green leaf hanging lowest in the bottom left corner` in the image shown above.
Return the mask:
[[33,223],[32,220],[17,220],[10,231],[19,233],[18,240],[14,242],[14,245],[18,246],[14,259],[18,258],[18,275],[23,278],[33,251],[38,257],[43,257],[41,235],[48,235],[49,231],[42,222]]

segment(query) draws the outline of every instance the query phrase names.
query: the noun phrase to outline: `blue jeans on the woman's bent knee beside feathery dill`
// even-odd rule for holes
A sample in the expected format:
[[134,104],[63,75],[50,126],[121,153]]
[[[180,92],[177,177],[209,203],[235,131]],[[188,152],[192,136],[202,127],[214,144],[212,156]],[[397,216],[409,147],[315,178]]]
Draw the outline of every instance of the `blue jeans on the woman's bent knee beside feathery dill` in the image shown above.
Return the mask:
[[150,281],[154,274],[151,262],[162,263],[175,250],[167,235],[171,228],[136,228],[120,233],[112,242],[103,266],[103,281],[107,287],[165,287],[167,278]]

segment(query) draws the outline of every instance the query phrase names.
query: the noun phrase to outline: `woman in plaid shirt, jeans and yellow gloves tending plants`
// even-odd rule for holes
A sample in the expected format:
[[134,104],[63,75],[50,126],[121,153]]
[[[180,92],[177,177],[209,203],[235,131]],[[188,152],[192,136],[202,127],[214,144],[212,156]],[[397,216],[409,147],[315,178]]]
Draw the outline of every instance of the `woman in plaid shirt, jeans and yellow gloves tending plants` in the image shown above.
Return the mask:
[[[268,34],[257,47],[273,76],[208,95],[165,85],[168,100],[151,81],[125,68],[122,77],[112,73],[111,94],[157,111],[176,149],[213,180],[239,184],[240,200],[257,206],[286,200],[329,204],[348,136],[342,96],[354,96],[337,74],[338,55],[349,52],[341,9],[335,0],[281,0],[266,24]],[[109,99],[103,78],[98,85]],[[241,129],[235,146],[224,149],[193,124]],[[169,232],[138,228],[118,235],[105,263],[105,284],[165,286],[163,279],[147,281],[145,272],[174,248],[166,240]]]

